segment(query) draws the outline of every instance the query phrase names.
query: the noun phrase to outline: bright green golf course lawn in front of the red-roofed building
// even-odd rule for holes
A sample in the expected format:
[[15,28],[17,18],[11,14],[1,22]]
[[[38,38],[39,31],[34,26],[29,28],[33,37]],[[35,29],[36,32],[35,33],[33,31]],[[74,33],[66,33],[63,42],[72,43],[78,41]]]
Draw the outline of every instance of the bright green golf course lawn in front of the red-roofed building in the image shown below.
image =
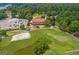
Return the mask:
[[[11,34],[10,36],[12,36],[15,33],[9,32],[9,35]],[[47,40],[45,42],[49,42],[50,48],[44,54],[72,54],[66,52],[79,49],[79,40],[58,28],[33,30],[30,33],[31,38],[28,40],[10,42],[10,39],[6,39],[7,43],[5,41],[2,43],[1,51],[9,54],[34,54],[34,46],[37,45],[37,40],[40,39],[45,39]],[[73,54],[78,53],[75,52]]]

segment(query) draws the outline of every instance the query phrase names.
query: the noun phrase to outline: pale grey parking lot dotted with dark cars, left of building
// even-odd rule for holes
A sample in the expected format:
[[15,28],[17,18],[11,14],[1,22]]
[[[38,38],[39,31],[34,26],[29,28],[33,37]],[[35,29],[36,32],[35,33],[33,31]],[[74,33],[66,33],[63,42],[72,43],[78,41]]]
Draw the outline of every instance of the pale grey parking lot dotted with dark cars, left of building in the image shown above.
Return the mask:
[[21,25],[27,27],[28,20],[19,18],[6,18],[5,20],[0,20],[0,29],[16,29]]

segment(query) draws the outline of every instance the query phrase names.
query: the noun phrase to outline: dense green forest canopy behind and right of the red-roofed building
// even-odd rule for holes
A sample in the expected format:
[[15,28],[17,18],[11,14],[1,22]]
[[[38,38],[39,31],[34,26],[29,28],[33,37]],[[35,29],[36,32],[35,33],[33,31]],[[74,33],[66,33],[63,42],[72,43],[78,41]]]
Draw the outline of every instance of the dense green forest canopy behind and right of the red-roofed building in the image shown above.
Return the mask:
[[[12,17],[25,18],[29,21],[33,16],[47,17],[47,25],[58,26],[63,31],[79,32],[79,4],[73,3],[27,3],[12,4],[9,10]],[[54,18],[57,16],[56,18]],[[0,18],[5,18],[4,12],[0,12]],[[52,17],[52,18],[51,18]]]

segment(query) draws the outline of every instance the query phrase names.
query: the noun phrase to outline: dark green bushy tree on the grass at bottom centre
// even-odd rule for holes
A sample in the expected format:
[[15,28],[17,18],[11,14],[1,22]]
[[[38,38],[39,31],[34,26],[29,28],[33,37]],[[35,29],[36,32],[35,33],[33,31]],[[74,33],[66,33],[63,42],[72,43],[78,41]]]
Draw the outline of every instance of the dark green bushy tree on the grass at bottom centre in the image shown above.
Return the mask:
[[48,44],[46,42],[39,41],[39,43],[37,43],[37,45],[34,47],[34,53],[36,55],[40,55],[45,53],[47,49],[49,49]]

